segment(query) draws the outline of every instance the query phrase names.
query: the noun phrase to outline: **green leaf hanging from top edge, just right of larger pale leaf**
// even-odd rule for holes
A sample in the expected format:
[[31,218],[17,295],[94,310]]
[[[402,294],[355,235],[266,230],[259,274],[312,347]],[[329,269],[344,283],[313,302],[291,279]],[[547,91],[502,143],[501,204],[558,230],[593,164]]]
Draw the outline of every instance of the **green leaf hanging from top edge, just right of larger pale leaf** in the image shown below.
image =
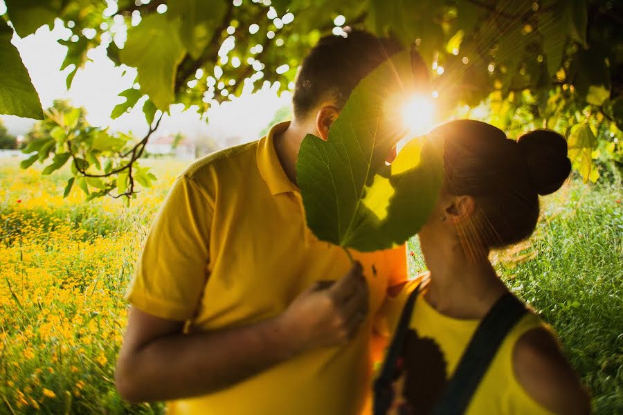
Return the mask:
[[215,28],[223,18],[225,1],[175,0],[170,2],[167,15],[181,20],[180,36],[183,45],[194,59],[199,59],[212,39]]

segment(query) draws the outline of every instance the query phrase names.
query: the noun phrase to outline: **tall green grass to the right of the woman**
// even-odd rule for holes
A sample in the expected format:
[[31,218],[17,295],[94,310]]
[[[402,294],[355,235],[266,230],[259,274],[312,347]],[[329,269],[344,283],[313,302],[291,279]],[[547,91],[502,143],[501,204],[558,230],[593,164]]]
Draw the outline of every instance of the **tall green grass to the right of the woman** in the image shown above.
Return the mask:
[[620,185],[553,196],[534,258],[500,272],[560,336],[598,414],[623,414],[623,208]]

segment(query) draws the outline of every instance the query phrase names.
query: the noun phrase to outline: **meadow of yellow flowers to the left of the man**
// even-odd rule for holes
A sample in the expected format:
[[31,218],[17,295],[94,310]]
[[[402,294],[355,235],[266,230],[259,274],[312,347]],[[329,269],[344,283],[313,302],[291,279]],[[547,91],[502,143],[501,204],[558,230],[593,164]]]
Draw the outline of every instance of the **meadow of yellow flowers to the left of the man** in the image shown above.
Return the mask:
[[147,223],[184,167],[152,163],[156,187],[125,208],[84,202],[78,188],[63,199],[63,172],[0,160],[0,414],[159,411],[114,392],[123,291]]

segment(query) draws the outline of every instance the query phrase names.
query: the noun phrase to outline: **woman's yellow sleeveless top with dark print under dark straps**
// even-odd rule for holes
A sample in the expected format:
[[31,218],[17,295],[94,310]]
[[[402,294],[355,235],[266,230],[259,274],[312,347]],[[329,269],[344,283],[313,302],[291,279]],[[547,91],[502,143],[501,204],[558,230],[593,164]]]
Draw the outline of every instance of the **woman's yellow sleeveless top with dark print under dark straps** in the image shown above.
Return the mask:
[[[410,282],[386,304],[386,324],[393,332],[408,294],[419,280]],[[395,383],[395,402],[388,414],[427,414],[453,375],[480,320],[458,320],[442,315],[420,294],[406,335],[401,366]],[[511,330],[482,377],[467,408],[467,415],[553,414],[527,394],[515,377],[513,350],[521,336],[548,326],[534,313],[527,313]]]

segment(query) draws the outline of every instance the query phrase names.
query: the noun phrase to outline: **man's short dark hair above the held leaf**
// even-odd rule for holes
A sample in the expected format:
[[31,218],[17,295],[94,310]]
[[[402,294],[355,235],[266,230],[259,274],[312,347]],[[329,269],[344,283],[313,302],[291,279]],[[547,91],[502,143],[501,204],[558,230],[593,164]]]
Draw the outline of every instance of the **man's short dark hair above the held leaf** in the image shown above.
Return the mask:
[[359,81],[399,50],[397,42],[363,30],[347,30],[345,37],[322,37],[303,59],[296,78],[294,116],[305,118],[329,97],[341,109]]

